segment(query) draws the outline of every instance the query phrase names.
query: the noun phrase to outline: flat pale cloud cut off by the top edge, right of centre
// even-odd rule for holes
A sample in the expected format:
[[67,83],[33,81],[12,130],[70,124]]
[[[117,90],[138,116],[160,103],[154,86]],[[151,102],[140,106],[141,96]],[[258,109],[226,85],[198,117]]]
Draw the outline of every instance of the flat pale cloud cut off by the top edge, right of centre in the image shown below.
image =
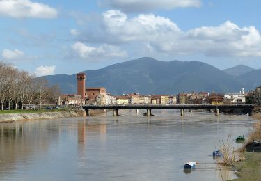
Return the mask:
[[147,10],[200,7],[200,0],[104,0],[107,6],[125,12],[142,12]]

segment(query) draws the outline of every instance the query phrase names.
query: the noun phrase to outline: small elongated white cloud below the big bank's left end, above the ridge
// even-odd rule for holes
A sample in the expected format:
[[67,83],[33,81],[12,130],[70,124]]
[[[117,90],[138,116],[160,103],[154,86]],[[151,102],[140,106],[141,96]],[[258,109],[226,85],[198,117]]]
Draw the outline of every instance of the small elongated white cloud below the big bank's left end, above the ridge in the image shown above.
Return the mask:
[[126,57],[127,52],[114,45],[100,45],[99,47],[90,47],[82,42],[75,42],[71,45],[74,54],[79,58],[105,58],[105,57]]

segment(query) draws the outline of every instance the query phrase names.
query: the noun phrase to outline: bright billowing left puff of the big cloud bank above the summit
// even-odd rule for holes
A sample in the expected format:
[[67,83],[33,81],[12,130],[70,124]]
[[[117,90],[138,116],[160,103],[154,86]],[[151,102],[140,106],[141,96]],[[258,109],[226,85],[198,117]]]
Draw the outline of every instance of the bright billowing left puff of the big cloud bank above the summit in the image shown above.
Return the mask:
[[103,13],[103,17],[104,31],[109,33],[106,37],[113,40],[150,40],[169,32],[180,33],[180,29],[170,19],[153,14],[140,14],[128,19],[127,15],[118,10],[108,10]]

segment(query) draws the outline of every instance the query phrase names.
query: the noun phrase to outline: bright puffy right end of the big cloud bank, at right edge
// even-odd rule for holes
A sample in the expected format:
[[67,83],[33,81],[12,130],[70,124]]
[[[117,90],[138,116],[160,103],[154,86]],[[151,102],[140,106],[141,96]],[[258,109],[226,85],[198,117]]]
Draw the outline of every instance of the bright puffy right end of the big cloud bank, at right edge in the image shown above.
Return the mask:
[[230,21],[191,29],[184,40],[184,49],[208,56],[261,56],[259,31],[254,26],[240,28]]

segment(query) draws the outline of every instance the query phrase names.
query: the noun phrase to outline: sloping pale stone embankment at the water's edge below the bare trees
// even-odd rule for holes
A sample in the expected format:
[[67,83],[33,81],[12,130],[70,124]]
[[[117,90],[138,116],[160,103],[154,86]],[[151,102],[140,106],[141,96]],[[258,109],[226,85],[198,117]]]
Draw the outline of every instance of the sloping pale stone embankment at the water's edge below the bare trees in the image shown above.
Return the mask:
[[0,114],[0,123],[16,122],[21,120],[38,120],[78,116],[81,116],[81,114],[75,111],[56,111],[43,113],[3,113]]

